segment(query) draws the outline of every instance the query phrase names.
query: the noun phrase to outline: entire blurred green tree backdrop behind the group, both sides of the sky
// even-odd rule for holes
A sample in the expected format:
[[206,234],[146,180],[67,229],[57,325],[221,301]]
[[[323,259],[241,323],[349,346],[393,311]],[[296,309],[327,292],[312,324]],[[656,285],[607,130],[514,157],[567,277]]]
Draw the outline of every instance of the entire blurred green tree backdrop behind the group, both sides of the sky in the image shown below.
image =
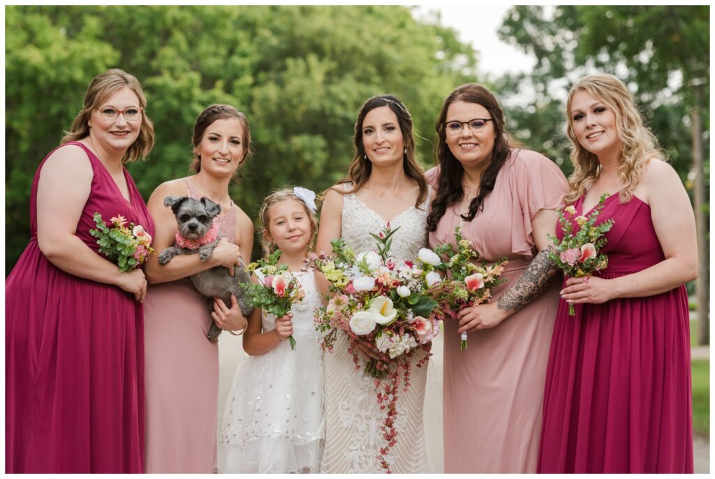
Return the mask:
[[[478,29],[478,8],[465,9]],[[255,156],[231,190],[250,217],[275,187],[322,191],[342,177],[358,109],[375,94],[408,105],[418,159],[430,167],[442,101],[465,82],[493,89],[513,136],[568,174],[563,99],[595,71],[628,83],[689,192],[699,109],[700,182],[709,184],[709,6],[514,6],[501,39],[536,67],[499,77],[480,74],[488,44],[463,43],[439,14],[409,6],[6,6],[5,14],[6,275],[29,239],[37,165],[89,81],[112,67],[142,82],[156,127],[148,161],[129,165],[145,199],[189,173],[193,122],[215,102],[250,119]],[[707,197],[694,204],[709,216]]]

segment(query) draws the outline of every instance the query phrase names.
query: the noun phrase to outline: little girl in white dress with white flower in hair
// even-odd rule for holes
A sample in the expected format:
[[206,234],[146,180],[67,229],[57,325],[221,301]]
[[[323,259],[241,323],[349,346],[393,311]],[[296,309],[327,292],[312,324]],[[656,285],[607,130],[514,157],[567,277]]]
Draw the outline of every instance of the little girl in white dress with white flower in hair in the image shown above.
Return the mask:
[[317,232],[315,193],[300,187],[275,192],[260,219],[265,255],[281,251],[278,263],[289,266],[305,297],[285,316],[256,307],[248,318],[243,347],[249,357],[227,398],[217,466],[222,473],[317,473],[325,426],[322,352],[312,318],[322,301],[313,272],[300,271]]

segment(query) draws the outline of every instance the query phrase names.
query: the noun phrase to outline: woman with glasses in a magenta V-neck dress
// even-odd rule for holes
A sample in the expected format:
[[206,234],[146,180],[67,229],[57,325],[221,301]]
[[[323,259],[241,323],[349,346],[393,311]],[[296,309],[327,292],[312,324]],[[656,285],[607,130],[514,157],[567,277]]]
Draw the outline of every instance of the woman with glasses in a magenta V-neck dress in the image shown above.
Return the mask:
[[123,164],[154,128],[134,76],[112,69],[87,89],[71,131],[41,162],[31,239],[6,281],[6,473],[142,473],[142,270],[99,254],[95,212],[154,223]]

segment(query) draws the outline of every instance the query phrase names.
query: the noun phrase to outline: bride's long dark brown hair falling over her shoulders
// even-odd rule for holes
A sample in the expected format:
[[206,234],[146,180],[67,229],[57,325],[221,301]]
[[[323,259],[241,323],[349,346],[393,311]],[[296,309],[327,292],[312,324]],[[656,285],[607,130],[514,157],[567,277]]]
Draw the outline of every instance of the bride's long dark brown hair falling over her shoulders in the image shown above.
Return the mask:
[[400,132],[403,135],[403,144],[405,145],[405,153],[403,154],[403,169],[408,177],[417,182],[420,187],[420,194],[417,196],[415,207],[421,208],[425,198],[427,197],[427,180],[425,172],[420,164],[415,159],[415,137],[413,136],[413,123],[410,112],[407,111],[405,104],[394,95],[379,95],[368,99],[363,107],[360,108],[358,119],[355,121],[355,133],[352,135],[352,140],[355,144],[355,154],[350,162],[350,168],[347,170],[347,176],[342,178],[338,184],[349,184],[352,188],[347,191],[342,188],[332,187],[340,194],[350,194],[358,191],[370,179],[370,174],[373,172],[373,164],[367,158],[365,152],[365,144],[363,144],[363,122],[365,117],[373,109],[379,107],[388,107],[398,118]]

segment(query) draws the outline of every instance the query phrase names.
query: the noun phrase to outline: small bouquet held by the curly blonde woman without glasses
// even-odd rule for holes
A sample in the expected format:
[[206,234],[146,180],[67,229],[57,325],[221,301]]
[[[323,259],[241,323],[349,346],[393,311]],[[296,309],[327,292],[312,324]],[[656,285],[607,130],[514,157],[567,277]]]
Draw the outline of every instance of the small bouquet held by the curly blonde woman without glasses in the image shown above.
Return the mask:
[[[599,254],[598,250],[606,245],[604,234],[613,227],[613,219],[607,219],[596,226],[596,219],[601,214],[607,197],[607,193],[601,195],[601,199],[588,217],[576,216],[576,208],[573,205],[557,210],[563,239],[559,241],[557,237],[549,235],[556,248],[549,252],[548,259],[556,262],[564,275],[586,277],[588,280],[594,272],[608,266],[608,257],[603,253]],[[573,231],[574,223],[576,223],[576,232]],[[576,315],[572,304],[568,305],[568,315]]]

